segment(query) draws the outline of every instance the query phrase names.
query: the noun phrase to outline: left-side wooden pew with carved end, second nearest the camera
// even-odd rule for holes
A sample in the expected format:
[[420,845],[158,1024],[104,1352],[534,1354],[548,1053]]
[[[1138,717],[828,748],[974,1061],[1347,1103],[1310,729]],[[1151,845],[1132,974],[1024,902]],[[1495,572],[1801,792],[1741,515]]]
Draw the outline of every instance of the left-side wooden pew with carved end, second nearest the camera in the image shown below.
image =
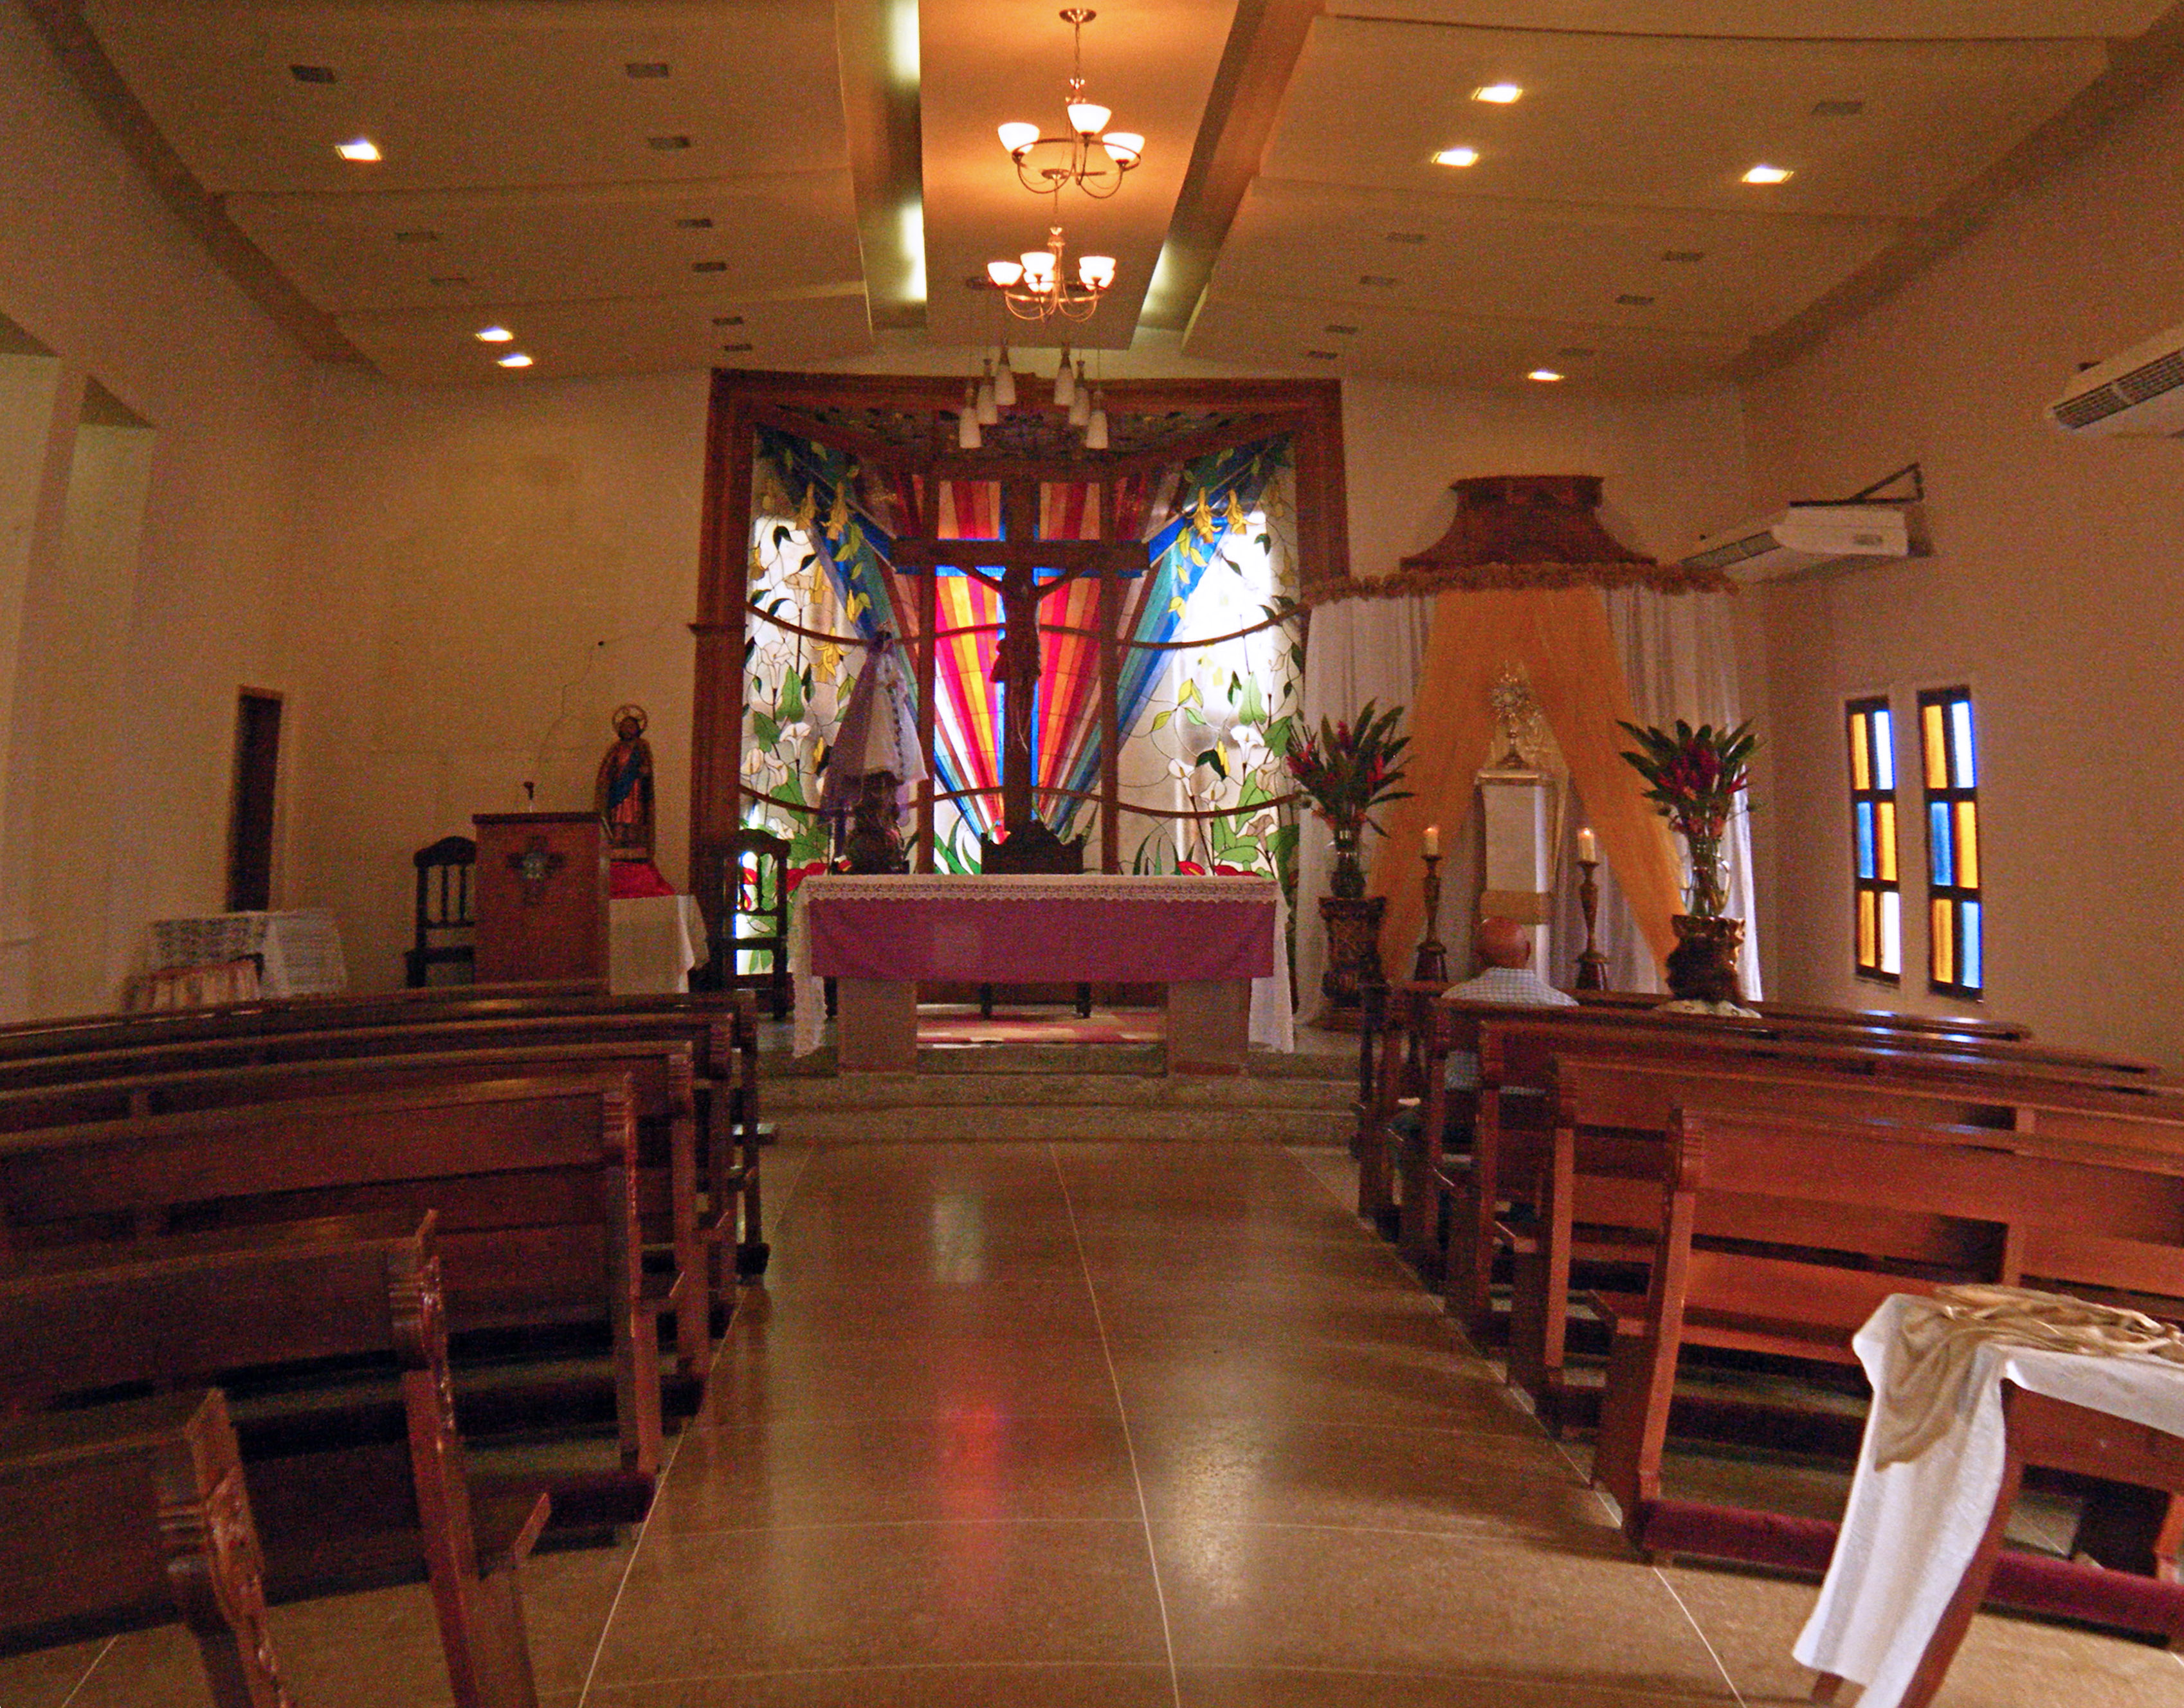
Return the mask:
[[44,1273],[0,1282],[0,1396],[50,1404],[323,1361],[343,1361],[352,1383],[349,1361],[395,1374],[400,1420],[384,1439],[352,1435],[343,1402],[328,1437],[297,1450],[312,1418],[310,1396],[293,1391],[277,1415],[286,1450],[253,1448],[245,1422],[266,1592],[422,1577],[456,1708],[537,1708],[518,1568],[548,1494],[465,1468],[432,1217],[402,1238],[288,1238],[116,1267],[111,1256],[46,1254]]

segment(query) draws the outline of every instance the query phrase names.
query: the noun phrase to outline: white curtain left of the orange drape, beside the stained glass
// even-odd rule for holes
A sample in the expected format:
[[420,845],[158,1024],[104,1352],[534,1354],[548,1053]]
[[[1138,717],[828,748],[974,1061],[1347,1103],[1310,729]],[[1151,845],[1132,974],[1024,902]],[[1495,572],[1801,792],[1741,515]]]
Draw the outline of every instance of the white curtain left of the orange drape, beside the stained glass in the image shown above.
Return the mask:
[[[1417,666],[1433,631],[1431,598],[1343,598],[1313,612],[1313,633],[1304,647],[1304,725],[1321,719],[1354,719],[1365,701],[1382,708],[1409,705],[1417,692]],[[1328,893],[1334,837],[1313,813],[1297,815],[1297,1013],[1321,1009],[1319,978],[1328,970],[1328,933],[1319,920],[1319,898]],[[1365,861],[1372,845],[1365,839]],[[1409,968],[1389,968],[1406,976]]]

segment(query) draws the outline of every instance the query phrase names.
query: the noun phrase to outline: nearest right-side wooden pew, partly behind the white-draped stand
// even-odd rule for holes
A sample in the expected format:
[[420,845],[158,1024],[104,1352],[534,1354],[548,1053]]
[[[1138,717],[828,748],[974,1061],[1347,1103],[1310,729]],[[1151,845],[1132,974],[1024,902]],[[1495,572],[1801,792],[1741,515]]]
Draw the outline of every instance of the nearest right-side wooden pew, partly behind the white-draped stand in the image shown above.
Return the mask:
[[[1660,1193],[1645,1297],[1597,1295],[1612,1352],[1594,1479],[1621,1503],[1640,1551],[1666,1546],[1655,1535],[1660,1457],[1686,1345],[1854,1363],[1850,1337],[1883,1297],[1931,1291],[1950,1269],[2125,1295],[2184,1317],[2177,1171],[2003,1151],[1983,1131],[1682,1110]],[[1710,1230],[1732,1232],[1734,1243],[1712,1234],[1708,1245]],[[1985,1238],[1968,1241],[1972,1230]],[[1721,1540],[1706,1542],[1690,1514],[1673,1514],[1664,1533],[1693,1551],[1765,1559],[1734,1551],[1760,1546],[1765,1525],[1725,1522]],[[2160,1621],[2145,1629],[2167,1634],[2184,1616],[2184,1586],[2158,1588],[2167,1594],[2145,1579],[2125,1586],[2094,1616],[2129,1625],[2158,1603]],[[2022,1584],[2005,1599],[2022,1603]],[[2081,1601],[2064,1605],[2084,1614]]]

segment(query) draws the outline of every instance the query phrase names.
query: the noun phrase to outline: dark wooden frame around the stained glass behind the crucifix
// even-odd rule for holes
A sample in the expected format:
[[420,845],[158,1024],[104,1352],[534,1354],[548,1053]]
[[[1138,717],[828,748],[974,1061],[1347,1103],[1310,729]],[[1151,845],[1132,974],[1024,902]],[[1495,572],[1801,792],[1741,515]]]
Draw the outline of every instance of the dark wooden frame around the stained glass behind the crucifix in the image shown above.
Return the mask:
[[[1040,380],[1029,380],[1040,387]],[[856,452],[904,476],[954,481],[1114,481],[1179,465],[1210,450],[1289,432],[1295,446],[1297,483],[1297,581],[1310,594],[1350,579],[1350,511],[1343,476],[1343,402],[1337,380],[1114,380],[1103,382],[1109,415],[1158,415],[1168,411],[1221,411],[1219,428],[1177,437],[1151,450],[1096,452],[1022,459],[1000,452],[957,450],[954,422],[963,408],[963,382],[954,378],[874,373],[771,373],[716,369],[712,413],[705,430],[705,515],[699,546],[697,668],[690,708],[690,869],[699,854],[729,837],[743,815],[743,644],[749,585],[751,463],[760,428],[797,432],[819,443]],[[902,446],[865,435],[830,411],[887,408],[928,415],[933,432],[924,443]],[[1053,404],[1018,404],[1053,408]],[[926,539],[906,539],[913,557],[926,557]],[[930,585],[930,579],[928,579]],[[1112,681],[1120,647],[1103,649],[1103,673]],[[930,705],[933,684],[922,673],[919,699]],[[1112,710],[1112,708],[1109,708]],[[1103,730],[1107,767],[1101,786],[1103,865],[1116,865],[1114,797],[1116,730]],[[930,832],[930,784],[919,802],[919,828]],[[919,858],[930,858],[930,837],[919,839]]]

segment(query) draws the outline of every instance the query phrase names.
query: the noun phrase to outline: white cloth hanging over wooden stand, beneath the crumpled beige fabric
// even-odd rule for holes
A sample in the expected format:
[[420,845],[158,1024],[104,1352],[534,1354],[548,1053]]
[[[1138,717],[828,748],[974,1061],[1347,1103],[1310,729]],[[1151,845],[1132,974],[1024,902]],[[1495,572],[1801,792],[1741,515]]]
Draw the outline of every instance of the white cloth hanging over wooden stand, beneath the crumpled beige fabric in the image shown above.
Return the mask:
[[1859,1708],[1896,1708],[1933,1638],[2003,1485],[2003,1380],[2053,1400],[2184,1435],[2184,1367],[2162,1359],[2097,1359],[2022,1345],[1981,1345],[1963,1393],[1968,1411],[1918,1459],[1876,1466],[1874,1435],[1889,1393],[1889,1361],[1913,1300],[1883,1302],[1852,1345],[1874,1385],[1859,1476],[1828,1562],[1819,1605],[1795,1656],[1819,1673],[1863,1684]]

